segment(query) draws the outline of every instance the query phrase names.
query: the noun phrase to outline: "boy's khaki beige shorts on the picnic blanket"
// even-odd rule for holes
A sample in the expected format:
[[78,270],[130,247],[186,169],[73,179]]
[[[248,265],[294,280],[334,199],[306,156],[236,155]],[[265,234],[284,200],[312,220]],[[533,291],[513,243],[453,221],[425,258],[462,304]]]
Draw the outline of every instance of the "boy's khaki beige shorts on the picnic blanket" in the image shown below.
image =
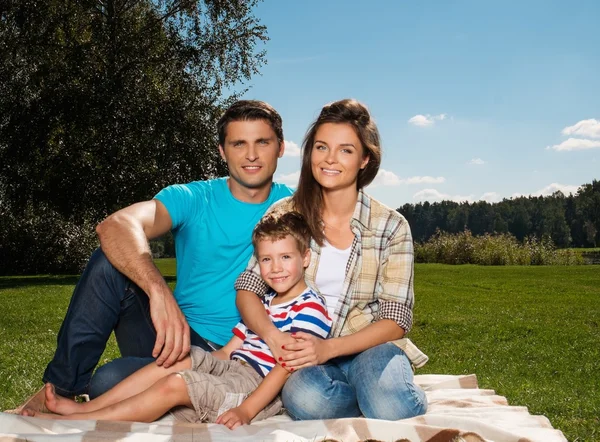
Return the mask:
[[[215,422],[221,414],[240,405],[263,380],[245,362],[223,361],[198,347],[192,347],[190,356],[192,368],[179,374],[187,384],[194,409],[177,407],[171,410],[179,421]],[[277,396],[256,415],[253,422],[274,416],[281,410],[281,399]]]

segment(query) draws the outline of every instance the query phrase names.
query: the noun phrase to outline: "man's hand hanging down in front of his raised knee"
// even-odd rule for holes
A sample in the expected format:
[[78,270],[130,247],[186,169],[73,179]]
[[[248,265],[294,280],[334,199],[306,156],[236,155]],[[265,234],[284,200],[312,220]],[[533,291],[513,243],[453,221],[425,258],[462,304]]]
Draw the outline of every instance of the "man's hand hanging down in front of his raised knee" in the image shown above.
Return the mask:
[[190,352],[190,326],[168,287],[150,296],[150,316],[156,329],[152,356],[168,368]]

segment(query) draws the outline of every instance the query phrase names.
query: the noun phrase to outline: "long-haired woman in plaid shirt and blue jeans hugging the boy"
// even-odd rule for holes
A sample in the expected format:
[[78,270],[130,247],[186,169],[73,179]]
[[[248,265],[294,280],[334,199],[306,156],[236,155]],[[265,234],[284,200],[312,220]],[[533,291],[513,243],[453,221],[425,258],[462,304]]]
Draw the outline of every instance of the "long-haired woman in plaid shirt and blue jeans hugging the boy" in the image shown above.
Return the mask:
[[367,108],[349,99],[328,104],[305,137],[296,193],[270,209],[297,210],[310,224],[306,280],[327,301],[329,339],[303,333],[291,339],[274,329],[256,297],[267,288],[254,259],[236,282],[244,321],[294,371],[282,392],[294,419],[397,420],[427,409],[410,361],[396,345],[412,325],[410,228],[363,191],[380,162],[379,133]]

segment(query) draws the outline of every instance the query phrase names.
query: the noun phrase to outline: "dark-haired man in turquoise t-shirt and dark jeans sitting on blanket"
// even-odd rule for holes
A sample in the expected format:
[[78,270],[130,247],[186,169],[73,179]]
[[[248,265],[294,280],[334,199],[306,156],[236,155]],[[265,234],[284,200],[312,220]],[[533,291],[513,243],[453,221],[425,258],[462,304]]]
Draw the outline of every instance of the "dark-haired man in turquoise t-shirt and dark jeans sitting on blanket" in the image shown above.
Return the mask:
[[[270,105],[235,103],[219,120],[218,134],[229,177],[169,186],[98,225],[101,248],[75,288],[43,377],[58,394],[88,392],[113,330],[125,358],[94,395],[150,357],[169,367],[189,353],[190,344],[211,351],[231,337],[240,319],[233,285],[252,254],[252,229],[272,203],[292,192],[272,181],[284,142],[281,117]],[[174,293],[148,244],[169,230],[177,255]],[[24,405],[43,404],[42,389]]]

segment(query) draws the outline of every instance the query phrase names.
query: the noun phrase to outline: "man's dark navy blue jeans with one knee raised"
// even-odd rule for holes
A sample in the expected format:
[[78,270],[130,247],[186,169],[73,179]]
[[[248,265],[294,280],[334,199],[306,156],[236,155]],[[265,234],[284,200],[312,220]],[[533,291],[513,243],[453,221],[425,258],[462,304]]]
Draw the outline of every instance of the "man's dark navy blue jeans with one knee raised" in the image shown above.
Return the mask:
[[[91,381],[113,330],[124,358],[107,364]],[[193,330],[190,333],[192,345],[213,350]],[[90,392],[95,397],[152,362],[155,340],[148,296],[97,249],[75,287],[43,381],[54,384],[63,396]]]

